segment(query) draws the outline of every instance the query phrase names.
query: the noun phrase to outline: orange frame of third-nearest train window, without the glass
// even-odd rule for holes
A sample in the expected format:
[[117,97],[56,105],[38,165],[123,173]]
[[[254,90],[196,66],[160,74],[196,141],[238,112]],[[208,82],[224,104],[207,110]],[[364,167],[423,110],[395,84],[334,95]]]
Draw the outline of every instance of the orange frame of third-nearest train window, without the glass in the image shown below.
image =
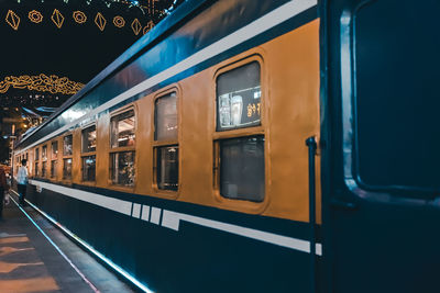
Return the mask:
[[[125,112],[129,112],[133,110],[134,112],[134,144],[132,146],[123,146],[123,147],[111,147],[111,135],[112,135],[112,128],[111,128],[111,119],[114,116],[118,116],[120,114],[123,114]],[[138,139],[139,139],[139,135],[138,135],[138,129],[139,129],[139,111],[138,111],[138,106],[135,103],[130,103],[121,109],[118,109],[113,112],[110,113],[109,115],[109,137],[108,137],[108,146],[109,146],[109,151],[107,154],[108,156],[108,185],[114,189],[120,189],[120,190],[124,190],[124,191],[134,191],[134,189],[136,188],[138,184],[138,176],[139,176],[139,165],[138,165],[138,157],[139,155],[136,154],[136,145],[138,145]],[[113,172],[112,172],[112,155],[117,154],[117,153],[127,153],[127,151],[133,151],[134,153],[134,183],[133,185],[121,185],[118,183],[113,182]]]

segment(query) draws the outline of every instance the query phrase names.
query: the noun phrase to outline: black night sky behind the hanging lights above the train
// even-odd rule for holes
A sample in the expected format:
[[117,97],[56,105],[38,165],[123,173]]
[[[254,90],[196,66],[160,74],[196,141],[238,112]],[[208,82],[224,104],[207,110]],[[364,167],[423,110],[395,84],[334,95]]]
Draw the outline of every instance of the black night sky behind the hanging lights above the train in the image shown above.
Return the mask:
[[[163,19],[166,15],[164,9],[172,7],[173,2],[144,0],[140,1],[141,9],[130,7],[128,2],[105,0],[0,0],[0,81],[9,76],[44,74],[67,77],[85,84],[138,41],[151,21],[157,23]],[[59,13],[54,14],[55,10]],[[34,11],[32,20],[31,11]],[[86,22],[76,22],[75,11],[79,11],[77,21],[84,21],[86,15]],[[101,16],[97,22],[102,30],[95,22],[98,13]],[[117,25],[124,24],[122,27],[113,23],[116,16]],[[2,106],[59,106],[70,95],[10,87],[0,93],[0,102]]]

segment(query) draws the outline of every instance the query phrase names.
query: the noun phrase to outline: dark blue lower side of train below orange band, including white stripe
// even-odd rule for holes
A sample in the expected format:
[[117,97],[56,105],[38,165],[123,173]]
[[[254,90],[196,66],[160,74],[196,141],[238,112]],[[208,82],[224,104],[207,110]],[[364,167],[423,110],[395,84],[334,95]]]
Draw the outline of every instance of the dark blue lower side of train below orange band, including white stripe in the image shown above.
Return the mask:
[[307,223],[42,181],[26,196],[155,292],[309,291]]

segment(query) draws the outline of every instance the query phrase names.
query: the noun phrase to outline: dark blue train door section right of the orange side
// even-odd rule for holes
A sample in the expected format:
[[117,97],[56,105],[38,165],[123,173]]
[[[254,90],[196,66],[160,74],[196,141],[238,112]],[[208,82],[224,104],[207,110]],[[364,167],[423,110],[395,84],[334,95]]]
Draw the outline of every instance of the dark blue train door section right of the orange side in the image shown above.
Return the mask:
[[438,293],[440,1],[321,4],[324,292]]

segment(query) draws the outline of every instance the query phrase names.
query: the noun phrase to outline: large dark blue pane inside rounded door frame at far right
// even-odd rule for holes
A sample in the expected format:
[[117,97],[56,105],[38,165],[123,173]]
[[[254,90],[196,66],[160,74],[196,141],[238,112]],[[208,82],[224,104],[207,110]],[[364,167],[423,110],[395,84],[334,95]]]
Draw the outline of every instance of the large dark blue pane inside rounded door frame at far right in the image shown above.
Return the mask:
[[354,19],[355,178],[431,196],[440,190],[440,1],[396,3],[370,1]]

